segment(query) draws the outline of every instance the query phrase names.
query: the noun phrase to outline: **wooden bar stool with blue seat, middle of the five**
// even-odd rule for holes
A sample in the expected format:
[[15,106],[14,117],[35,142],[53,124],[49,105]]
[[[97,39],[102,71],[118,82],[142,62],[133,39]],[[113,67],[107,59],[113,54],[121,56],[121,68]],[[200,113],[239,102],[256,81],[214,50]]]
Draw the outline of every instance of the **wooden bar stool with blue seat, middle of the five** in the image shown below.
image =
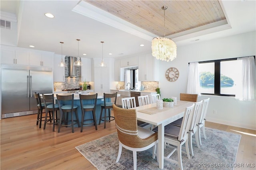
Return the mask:
[[[72,126],[72,133],[74,133],[74,125],[78,124],[78,127],[80,127],[80,122],[77,115],[77,105],[74,104],[74,94],[67,95],[67,96],[61,96],[56,94],[58,105],[60,109],[60,123],[58,125],[58,132],[60,132],[60,126]],[[71,104],[70,104],[71,102]],[[73,118],[73,113],[75,112],[76,120]],[[66,113],[66,119],[64,118],[64,113]],[[71,115],[71,120],[68,119],[68,113]],[[64,125],[62,125],[62,118],[64,119]],[[67,124],[67,122],[71,121],[71,124]],[[74,121],[76,123],[74,123]]]

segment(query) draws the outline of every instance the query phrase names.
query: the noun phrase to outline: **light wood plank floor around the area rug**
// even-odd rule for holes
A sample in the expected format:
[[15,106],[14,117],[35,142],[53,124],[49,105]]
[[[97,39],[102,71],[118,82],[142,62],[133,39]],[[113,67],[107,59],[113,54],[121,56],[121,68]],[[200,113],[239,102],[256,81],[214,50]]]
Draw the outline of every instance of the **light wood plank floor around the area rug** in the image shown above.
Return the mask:
[[[207,122],[206,127],[242,135],[236,163],[251,163],[251,165],[254,163],[255,165],[256,131],[211,122]],[[82,133],[78,127],[72,133],[70,127],[62,127],[58,133],[58,131],[52,132],[52,125],[46,125],[45,130],[43,126],[39,129],[36,125],[36,115],[1,119],[0,169],[95,170],[96,168],[75,147],[115,131],[114,121],[108,122],[106,129],[104,129],[104,124],[98,125],[97,131],[94,126],[87,126],[84,127]]]

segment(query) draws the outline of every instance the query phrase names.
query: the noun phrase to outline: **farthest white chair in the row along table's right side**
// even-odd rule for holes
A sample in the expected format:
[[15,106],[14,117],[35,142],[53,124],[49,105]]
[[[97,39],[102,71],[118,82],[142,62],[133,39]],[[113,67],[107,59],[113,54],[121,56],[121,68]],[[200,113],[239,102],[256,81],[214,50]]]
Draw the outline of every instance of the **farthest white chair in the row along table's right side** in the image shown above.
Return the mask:
[[198,129],[197,129],[197,134],[198,134],[198,140],[199,140],[199,144],[202,145],[201,143],[201,135],[200,135],[200,129],[202,128],[203,134],[204,134],[204,139],[206,139],[206,135],[205,135],[205,117],[206,117],[206,113],[207,113],[207,109],[208,109],[208,105],[209,105],[209,101],[210,98],[203,100],[203,105],[202,105],[202,111],[201,111],[201,115],[199,117],[199,121],[198,121]]

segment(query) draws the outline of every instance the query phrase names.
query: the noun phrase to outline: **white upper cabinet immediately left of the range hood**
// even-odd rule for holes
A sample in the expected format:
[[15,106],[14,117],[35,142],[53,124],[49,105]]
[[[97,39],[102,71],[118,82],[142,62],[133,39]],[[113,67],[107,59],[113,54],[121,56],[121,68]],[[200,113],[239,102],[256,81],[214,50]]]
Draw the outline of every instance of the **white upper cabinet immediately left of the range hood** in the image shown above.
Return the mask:
[[[62,56],[65,61],[65,56]],[[54,55],[53,59],[53,81],[54,82],[65,82],[65,67],[60,67],[61,55]]]

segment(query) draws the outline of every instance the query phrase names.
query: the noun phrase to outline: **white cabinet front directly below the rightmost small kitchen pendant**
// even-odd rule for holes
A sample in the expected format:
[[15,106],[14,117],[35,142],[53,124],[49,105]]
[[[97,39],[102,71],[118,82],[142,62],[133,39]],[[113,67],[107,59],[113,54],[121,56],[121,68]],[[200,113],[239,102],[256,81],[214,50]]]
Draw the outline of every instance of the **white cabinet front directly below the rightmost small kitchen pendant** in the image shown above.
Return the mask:
[[108,67],[94,67],[94,92],[110,92],[108,69]]

